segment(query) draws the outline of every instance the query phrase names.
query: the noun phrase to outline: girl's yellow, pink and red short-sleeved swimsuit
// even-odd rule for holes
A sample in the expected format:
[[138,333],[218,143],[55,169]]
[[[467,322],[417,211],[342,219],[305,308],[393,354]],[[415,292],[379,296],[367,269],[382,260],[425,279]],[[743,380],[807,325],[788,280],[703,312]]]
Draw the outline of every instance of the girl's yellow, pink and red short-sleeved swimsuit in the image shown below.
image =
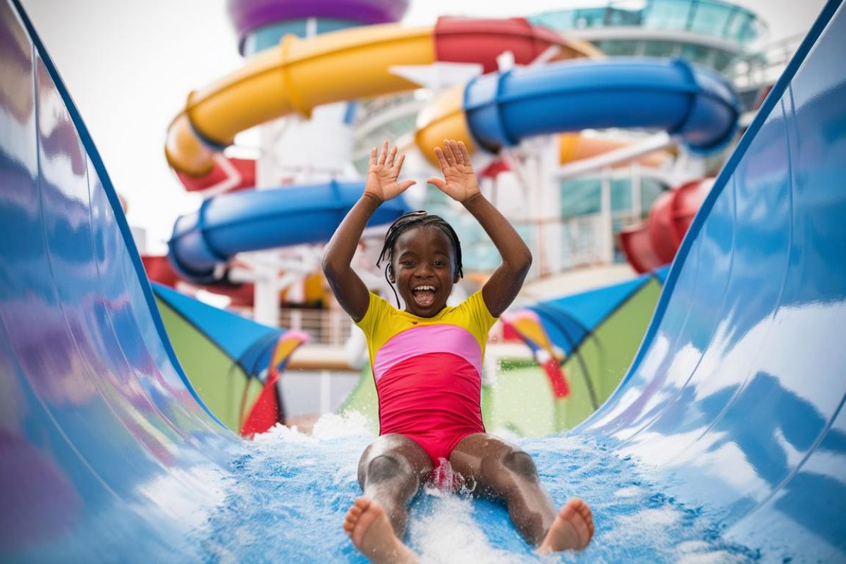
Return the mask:
[[367,337],[379,435],[409,437],[437,468],[465,436],[484,433],[481,361],[495,322],[481,290],[434,317],[400,311],[371,293],[356,325]]

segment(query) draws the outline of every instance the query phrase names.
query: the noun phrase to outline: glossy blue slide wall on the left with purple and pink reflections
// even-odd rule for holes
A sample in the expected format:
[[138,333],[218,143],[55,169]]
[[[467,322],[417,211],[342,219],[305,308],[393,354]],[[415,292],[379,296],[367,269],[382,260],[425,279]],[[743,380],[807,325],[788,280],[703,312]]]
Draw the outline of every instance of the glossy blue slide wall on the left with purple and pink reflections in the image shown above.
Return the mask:
[[239,439],[180,368],[91,134],[14,0],[0,61],[0,561],[198,560],[192,519]]

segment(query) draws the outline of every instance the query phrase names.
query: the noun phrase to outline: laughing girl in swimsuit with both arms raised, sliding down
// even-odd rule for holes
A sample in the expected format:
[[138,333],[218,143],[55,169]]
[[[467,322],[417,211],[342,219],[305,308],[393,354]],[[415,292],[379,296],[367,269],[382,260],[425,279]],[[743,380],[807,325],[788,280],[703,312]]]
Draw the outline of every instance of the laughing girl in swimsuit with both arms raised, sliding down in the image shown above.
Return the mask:
[[[443,178],[430,178],[475,216],[503,263],[485,286],[458,307],[447,305],[459,282],[461,246],[438,216],[416,211],[388,229],[382,259],[405,309],[368,292],[350,267],[365,225],[385,200],[413,180],[398,182],[404,156],[397,147],[371,151],[365,191],[323,257],[323,272],[341,307],[365,332],[379,397],[379,437],[359,463],[364,495],[349,508],[343,528],[372,562],[414,562],[402,538],[406,504],[442,464],[451,465],[474,491],[503,500],[519,534],[537,551],[583,549],[594,525],[584,501],[558,513],[541,485],[534,461],[518,447],[487,435],[481,422],[481,359],[487,332],[523,284],[531,254],[514,227],[485,199],[464,143],[445,140],[435,155]],[[377,263],[378,266],[378,263]]]

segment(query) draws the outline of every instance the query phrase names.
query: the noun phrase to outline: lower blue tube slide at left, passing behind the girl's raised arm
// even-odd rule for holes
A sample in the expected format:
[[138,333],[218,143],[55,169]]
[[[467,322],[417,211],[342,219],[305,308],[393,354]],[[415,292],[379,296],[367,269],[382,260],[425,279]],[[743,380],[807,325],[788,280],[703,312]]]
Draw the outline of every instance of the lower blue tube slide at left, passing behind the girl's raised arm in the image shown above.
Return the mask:
[[[362,182],[244,190],[205,200],[180,216],[168,242],[168,258],[192,282],[213,282],[215,266],[244,251],[325,243],[361,197]],[[401,197],[380,205],[368,226],[393,222],[409,211]]]

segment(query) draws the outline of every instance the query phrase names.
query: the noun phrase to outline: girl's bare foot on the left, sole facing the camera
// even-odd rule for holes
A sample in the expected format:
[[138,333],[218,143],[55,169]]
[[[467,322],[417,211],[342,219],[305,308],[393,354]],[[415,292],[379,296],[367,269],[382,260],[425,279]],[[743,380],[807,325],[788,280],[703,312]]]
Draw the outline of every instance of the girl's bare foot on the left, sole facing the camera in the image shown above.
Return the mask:
[[355,500],[343,520],[355,548],[376,564],[406,564],[417,561],[417,555],[395,534],[384,508],[366,497]]

